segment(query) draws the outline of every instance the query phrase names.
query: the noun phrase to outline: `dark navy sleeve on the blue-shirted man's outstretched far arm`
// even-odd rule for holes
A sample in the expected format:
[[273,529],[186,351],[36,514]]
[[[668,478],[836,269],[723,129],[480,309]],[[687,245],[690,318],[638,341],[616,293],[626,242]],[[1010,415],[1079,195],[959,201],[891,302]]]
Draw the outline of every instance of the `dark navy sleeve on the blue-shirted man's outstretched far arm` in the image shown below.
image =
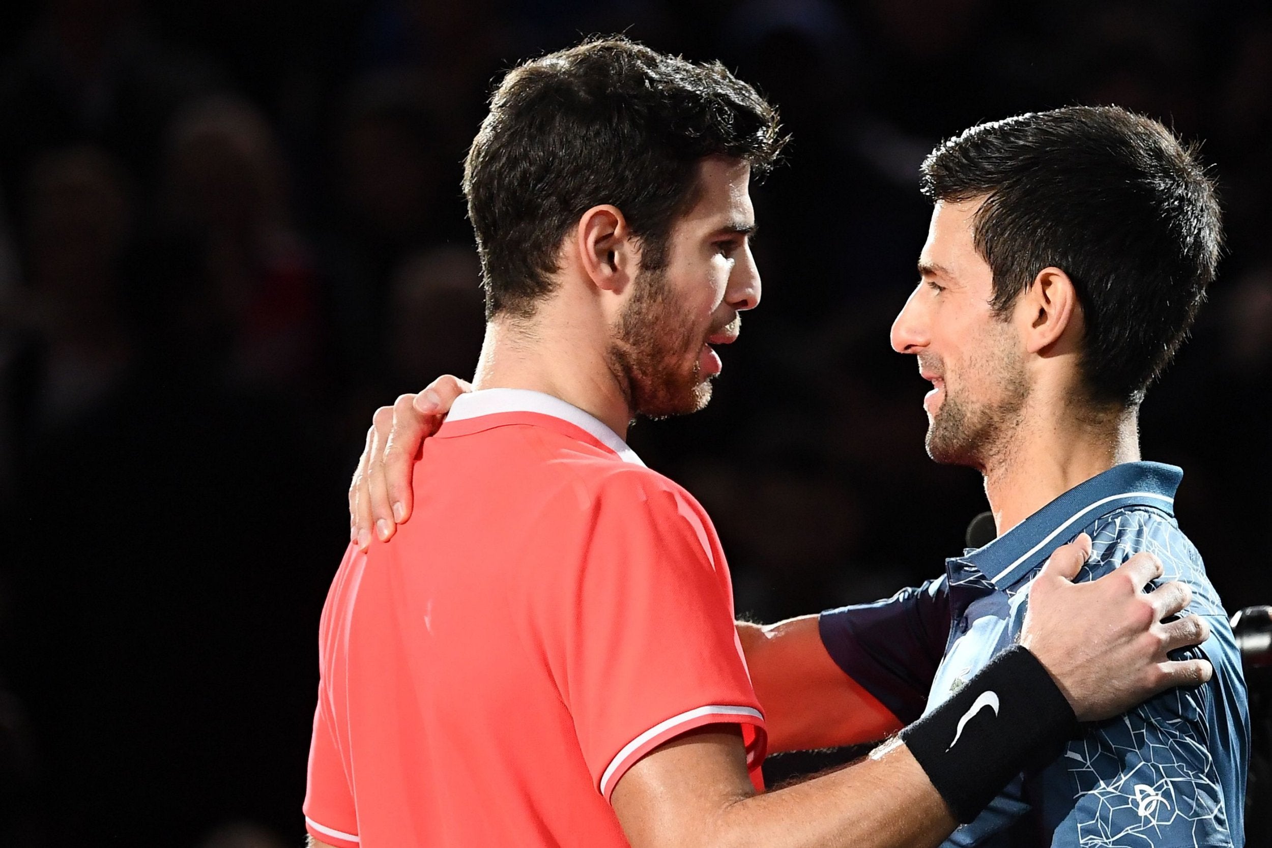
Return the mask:
[[908,725],[923,715],[949,641],[949,584],[943,576],[888,600],[831,609],[818,627],[843,673]]

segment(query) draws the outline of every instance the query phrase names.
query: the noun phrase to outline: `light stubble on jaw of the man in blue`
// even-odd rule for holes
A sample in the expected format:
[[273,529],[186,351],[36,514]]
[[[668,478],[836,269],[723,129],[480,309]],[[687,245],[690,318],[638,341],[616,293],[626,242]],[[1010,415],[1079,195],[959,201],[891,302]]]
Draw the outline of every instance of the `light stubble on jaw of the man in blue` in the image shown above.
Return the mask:
[[[992,365],[991,365],[992,362]],[[927,455],[937,463],[971,465],[985,470],[1011,450],[1023,421],[1029,383],[1024,365],[1014,351],[1002,346],[983,362],[972,364],[968,373],[982,370],[992,376],[1000,395],[992,403],[964,402],[945,383],[945,399],[927,425]]]

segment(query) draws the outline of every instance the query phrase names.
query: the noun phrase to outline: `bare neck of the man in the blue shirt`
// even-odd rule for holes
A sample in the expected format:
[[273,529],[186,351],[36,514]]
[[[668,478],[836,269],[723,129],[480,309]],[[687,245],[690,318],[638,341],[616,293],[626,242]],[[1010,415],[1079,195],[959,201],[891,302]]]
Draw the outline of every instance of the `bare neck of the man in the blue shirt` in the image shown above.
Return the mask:
[[1079,483],[1140,459],[1138,408],[1098,416],[1053,406],[1051,420],[1027,413],[1011,439],[982,469],[999,535]]

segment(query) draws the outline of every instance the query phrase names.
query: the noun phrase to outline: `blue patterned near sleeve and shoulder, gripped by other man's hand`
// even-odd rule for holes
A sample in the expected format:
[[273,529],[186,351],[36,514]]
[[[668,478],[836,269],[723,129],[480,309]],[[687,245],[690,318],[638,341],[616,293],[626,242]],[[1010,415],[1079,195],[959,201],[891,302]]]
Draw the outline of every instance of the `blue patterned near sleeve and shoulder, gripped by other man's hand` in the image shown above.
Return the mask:
[[1135,551],[1151,551],[1161,559],[1163,580],[1189,585],[1188,612],[1210,622],[1211,638],[1172,656],[1206,656],[1215,676],[1089,725],[1068,744],[1048,769],[1051,791],[1034,798],[1042,801],[1044,819],[1052,819],[1053,844],[1240,845],[1249,745],[1245,685],[1201,557],[1173,521],[1151,512],[1116,512],[1095,524],[1091,538],[1093,562],[1080,580],[1103,576]]

